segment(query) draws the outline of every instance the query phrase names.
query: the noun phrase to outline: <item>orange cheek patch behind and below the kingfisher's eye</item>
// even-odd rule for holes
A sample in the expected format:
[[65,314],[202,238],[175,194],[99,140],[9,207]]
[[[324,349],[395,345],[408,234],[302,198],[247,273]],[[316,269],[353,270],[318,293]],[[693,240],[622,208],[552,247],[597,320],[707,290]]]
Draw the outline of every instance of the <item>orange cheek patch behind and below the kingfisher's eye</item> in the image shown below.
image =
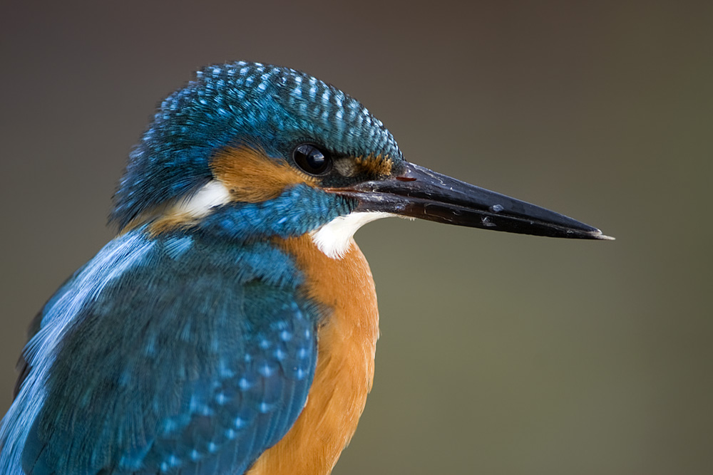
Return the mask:
[[317,179],[300,173],[284,160],[267,157],[248,147],[219,152],[210,163],[213,176],[230,192],[235,202],[260,203],[277,198],[295,184],[316,186]]

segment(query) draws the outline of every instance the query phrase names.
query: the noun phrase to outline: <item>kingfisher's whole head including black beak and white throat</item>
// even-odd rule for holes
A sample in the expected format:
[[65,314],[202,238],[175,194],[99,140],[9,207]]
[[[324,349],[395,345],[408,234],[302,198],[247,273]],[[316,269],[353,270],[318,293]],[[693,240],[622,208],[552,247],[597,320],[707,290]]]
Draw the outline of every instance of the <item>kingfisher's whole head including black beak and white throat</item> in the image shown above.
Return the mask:
[[586,224],[406,162],[359,101],[305,73],[209,66],[160,104],[130,154],[111,221],[232,239],[311,233],[339,257],[384,216],[607,239]]

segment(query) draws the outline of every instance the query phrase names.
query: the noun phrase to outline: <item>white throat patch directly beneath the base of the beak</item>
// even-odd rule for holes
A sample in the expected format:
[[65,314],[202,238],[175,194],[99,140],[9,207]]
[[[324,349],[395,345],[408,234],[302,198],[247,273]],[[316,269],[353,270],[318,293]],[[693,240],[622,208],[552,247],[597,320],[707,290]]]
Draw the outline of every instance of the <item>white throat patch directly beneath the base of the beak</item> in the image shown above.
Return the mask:
[[342,259],[354,243],[354,233],[364,224],[376,219],[396,216],[384,212],[355,212],[347,216],[337,216],[317,231],[312,231],[312,241],[317,249],[332,259]]

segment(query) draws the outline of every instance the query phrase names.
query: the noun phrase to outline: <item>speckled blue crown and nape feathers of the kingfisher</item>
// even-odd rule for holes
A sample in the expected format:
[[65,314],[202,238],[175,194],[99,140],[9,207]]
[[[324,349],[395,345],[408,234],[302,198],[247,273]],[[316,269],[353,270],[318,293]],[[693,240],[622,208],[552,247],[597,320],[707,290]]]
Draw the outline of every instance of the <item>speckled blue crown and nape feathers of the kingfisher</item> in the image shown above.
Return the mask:
[[358,100],[294,69],[238,61],[208,66],[166,98],[130,153],[110,220],[120,227],[189,196],[212,176],[225,147],[260,147],[287,157],[297,142],[353,157],[403,160],[384,124]]

